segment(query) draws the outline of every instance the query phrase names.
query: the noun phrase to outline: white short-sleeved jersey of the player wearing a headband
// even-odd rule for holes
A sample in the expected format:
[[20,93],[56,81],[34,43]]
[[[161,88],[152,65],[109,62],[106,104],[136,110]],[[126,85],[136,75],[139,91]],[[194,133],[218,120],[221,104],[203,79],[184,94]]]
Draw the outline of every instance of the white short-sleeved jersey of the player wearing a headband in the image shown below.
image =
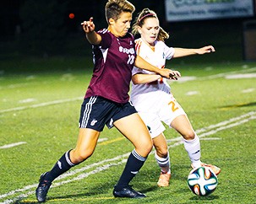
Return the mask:
[[[155,40],[155,51],[148,46],[144,40],[135,40],[137,55],[155,67],[164,68],[166,59],[170,60],[174,55],[174,48],[166,46],[163,41]],[[133,75],[136,73],[153,73],[138,67],[133,67]],[[149,111],[159,106],[161,97],[170,94],[171,88],[166,82],[166,78],[161,78],[152,83],[133,84],[131,101],[138,111]]]

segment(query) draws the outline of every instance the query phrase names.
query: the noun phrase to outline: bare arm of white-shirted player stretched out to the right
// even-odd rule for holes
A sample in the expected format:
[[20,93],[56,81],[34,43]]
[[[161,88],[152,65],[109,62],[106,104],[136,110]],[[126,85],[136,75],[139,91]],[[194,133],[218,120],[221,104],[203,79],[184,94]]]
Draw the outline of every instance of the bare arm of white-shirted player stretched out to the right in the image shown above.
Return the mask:
[[174,51],[173,58],[182,57],[182,56],[191,56],[191,55],[204,55],[205,53],[214,52],[215,48],[214,46],[204,46],[197,49],[175,47],[174,50],[175,51]]

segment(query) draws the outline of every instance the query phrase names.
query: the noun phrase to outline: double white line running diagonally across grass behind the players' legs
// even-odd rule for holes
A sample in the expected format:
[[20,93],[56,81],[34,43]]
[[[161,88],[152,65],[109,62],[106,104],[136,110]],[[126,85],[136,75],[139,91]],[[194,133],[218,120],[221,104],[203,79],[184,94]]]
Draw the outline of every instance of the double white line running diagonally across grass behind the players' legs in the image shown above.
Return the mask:
[[[248,121],[252,121],[252,120],[255,120],[255,119],[256,119],[256,111],[249,112],[248,114],[240,115],[240,116],[235,117],[235,118],[231,118],[228,121],[222,121],[221,123],[218,123],[216,125],[205,127],[203,129],[201,129],[201,132],[204,132],[204,133],[199,134],[199,137],[210,136],[210,135],[215,134],[216,132],[221,132],[221,131],[224,131],[224,130],[226,130],[228,128],[231,128],[231,127],[234,127],[234,126],[239,126],[239,125],[242,125],[243,123],[246,123]],[[178,141],[178,139],[177,139],[178,142],[170,145],[168,148],[174,148],[174,147],[177,147],[178,145],[181,145],[183,143],[181,141],[181,137],[178,137],[178,138],[179,138],[180,141]],[[115,158],[108,158],[106,160],[102,160],[101,162],[98,162],[98,163],[95,163],[95,164],[90,164],[90,165],[88,165],[86,167],[70,171],[67,174],[63,174],[62,176],[57,178],[57,180],[61,180],[61,179],[64,179],[64,178],[66,178],[66,177],[68,177],[70,175],[74,175],[74,174],[77,174],[79,172],[83,172],[85,169],[90,169],[90,168],[94,168],[95,167],[95,169],[92,169],[91,171],[89,171],[87,173],[79,174],[79,175],[77,175],[76,177],[74,177],[72,179],[63,180],[63,181],[60,181],[60,182],[54,182],[54,184],[52,184],[52,187],[56,187],[56,186],[59,186],[59,185],[67,184],[67,183],[72,182],[74,180],[82,180],[82,179],[88,177],[90,174],[96,174],[98,172],[101,172],[102,170],[109,169],[112,166],[117,166],[119,164],[123,164],[123,163],[126,162],[126,159],[128,158],[129,154],[130,153],[125,153],[125,154],[119,155],[119,156],[117,156]],[[99,166],[99,165],[104,164],[104,163],[107,163],[107,164],[105,164],[103,166]],[[28,190],[30,190],[32,188],[35,189],[36,186],[37,186],[37,184],[27,185],[27,186],[25,186],[22,189],[10,191],[10,192],[8,192],[6,194],[0,195],[0,199],[3,199],[4,197],[7,197],[7,196],[13,196],[14,194],[19,193],[19,192],[28,191]],[[29,191],[29,192],[26,192],[26,193],[21,194],[19,196],[16,196],[13,199],[5,200],[2,203],[4,203],[4,204],[12,203],[14,201],[18,201],[19,199],[22,199],[22,198],[25,198],[27,196],[30,196],[31,194],[34,194],[34,193],[35,193],[35,190],[34,191]]]

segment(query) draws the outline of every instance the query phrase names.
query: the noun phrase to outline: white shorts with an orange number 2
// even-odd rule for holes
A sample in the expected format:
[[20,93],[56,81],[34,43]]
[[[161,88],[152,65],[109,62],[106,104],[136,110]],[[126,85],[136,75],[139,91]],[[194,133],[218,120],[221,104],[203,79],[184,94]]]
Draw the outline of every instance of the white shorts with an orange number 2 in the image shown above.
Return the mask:
[[168,100],[166,100],[157,111],[139,111],[139,115],[148,127],[151,138],[155,138],[166,130],[162,122],[166,123],[166,125],[171,128],[172,121],[177,116],[186,115],[186,113],[173,96],[170,99],[169,94]]

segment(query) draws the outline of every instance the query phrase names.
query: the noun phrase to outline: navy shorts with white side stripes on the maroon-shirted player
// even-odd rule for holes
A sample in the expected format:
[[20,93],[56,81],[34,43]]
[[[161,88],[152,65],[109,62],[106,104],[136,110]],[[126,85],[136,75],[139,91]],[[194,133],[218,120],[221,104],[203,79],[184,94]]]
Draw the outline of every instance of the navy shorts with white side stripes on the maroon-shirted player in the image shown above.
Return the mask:
[[91,96],[81,105],[79,127],[102,132],[105,125],[112,128],[114,121],[133,113],[137,110],[130,102],[118,104],[101,96]]

